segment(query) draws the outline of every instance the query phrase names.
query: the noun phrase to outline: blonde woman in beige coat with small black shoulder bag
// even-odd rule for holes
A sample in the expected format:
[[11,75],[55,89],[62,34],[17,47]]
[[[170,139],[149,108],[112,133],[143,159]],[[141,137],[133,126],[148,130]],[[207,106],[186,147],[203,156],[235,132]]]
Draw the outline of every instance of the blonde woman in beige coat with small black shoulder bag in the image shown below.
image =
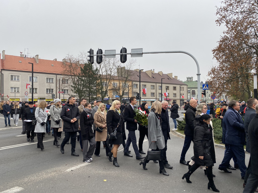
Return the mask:
[[[97,112],[94,114],[94,124],[96,127],[99,127],[101,130],[103,129],[102,132],[99,132],[96,130],[96,136],[95,136],[95,141],[96,141],[96,149],[94,155],[100,156],[100,142],[101,141],[106,141],[107,139],[107,112],[106,112],[106,105],[104,103],[99,104],[99,108]],[[106,151],[106,154],[108,152]]]

